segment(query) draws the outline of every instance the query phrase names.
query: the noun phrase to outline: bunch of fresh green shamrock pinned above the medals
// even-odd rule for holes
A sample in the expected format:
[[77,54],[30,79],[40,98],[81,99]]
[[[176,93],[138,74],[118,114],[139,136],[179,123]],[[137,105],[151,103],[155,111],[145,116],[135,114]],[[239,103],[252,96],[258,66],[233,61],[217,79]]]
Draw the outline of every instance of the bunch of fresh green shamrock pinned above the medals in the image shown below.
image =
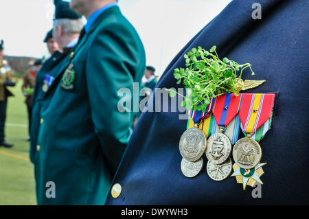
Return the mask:
[[216,52],[216,46],[209,51],[202,47],[192,48],[184,55],[186,68],[174,69],[176,84],[185,84],[186,95],[177,93],[174,89],[167,89],[170,97],[176,94],[184,97],[182,106],[192,111],[206,111],[213,97],[225,93],[239,95],[240,78],[244,69],[249,68],[252,75],[251,64],[238,64],[229,58],[220,60]]

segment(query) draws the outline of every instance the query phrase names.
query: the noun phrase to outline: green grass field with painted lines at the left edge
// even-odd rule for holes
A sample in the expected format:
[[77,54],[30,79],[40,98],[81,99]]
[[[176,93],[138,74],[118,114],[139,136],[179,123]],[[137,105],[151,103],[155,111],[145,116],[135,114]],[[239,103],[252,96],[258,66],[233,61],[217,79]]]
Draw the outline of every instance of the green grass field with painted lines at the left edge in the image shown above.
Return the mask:
[[36,205],[34,166],[29,160],[27,108],[21,93],[22,81],[10,88],[5,141],[13,148],[0,148],[0,205]]

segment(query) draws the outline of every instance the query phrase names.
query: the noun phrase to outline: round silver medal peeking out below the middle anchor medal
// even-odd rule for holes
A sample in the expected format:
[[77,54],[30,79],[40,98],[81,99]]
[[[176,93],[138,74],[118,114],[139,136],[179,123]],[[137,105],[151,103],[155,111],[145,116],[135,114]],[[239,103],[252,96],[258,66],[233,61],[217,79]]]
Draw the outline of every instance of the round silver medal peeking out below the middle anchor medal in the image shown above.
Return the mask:
[[215,164],[211,161],[207,163],[207,174],[214,181],[225,180],[231,174],[232,163],[231,158],[227,159],[224,163]]

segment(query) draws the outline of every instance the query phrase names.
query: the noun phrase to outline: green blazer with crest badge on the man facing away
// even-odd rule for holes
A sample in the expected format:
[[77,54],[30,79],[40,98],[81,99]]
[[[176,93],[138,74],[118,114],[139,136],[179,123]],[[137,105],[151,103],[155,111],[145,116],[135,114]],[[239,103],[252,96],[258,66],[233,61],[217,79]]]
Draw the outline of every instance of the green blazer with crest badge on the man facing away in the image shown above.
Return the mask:
[[[137,32],[115,6],[81,36],[44,97],[55,89],[41,111],[38,205],[104,205],[132,132],[133,113],[118,111],[117,91],[133,93],[133,82],[141,82],[146,58]],[[49,181],[56,198],[45,195]]]

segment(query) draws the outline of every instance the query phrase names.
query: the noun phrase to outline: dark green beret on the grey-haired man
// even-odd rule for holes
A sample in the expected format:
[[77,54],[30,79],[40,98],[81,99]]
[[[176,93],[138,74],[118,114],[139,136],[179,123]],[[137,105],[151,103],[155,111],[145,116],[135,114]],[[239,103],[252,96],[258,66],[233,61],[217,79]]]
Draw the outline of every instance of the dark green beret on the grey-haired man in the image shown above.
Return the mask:
[[70,8],[67,1],[55,1],[55,19],[80,19],[82,16]]

